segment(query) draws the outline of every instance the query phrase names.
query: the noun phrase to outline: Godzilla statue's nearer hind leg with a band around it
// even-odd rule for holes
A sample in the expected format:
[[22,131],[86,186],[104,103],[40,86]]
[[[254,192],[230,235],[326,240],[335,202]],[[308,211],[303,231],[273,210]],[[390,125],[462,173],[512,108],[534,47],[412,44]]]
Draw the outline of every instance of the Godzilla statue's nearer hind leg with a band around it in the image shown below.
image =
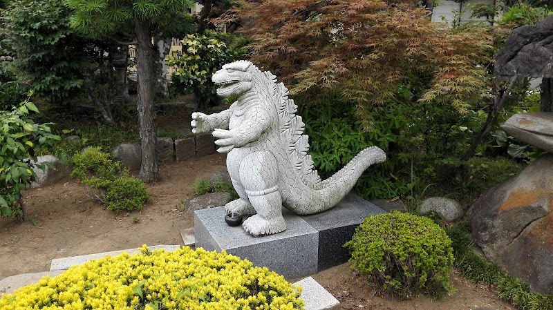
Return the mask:
[[240,164],[240,180],[247,199],[257,212],[242,224],[252,235],[270,235],[286,229],[282,217],[277,159],[268,151],[247,155]]

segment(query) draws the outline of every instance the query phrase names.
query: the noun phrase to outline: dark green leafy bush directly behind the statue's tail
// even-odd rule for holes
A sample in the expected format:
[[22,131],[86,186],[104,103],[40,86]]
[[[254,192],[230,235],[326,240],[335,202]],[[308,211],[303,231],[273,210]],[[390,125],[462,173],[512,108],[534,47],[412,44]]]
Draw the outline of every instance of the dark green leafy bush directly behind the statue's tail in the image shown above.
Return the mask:
[[[413,81],[415,84],[415,81]],[[422,84],[422,82],[421,82]],[[323,178],[345,166],[367,146],[383,148],[388,159],[359,178],[354,190],[362,197],[407,197],[413,189],[451,179],[460,166],[477,120],[460,115],[445,104],[416,101],[422,86],[400,85],[386,106],[371,113],[364,130],[353,104],[339,98],[299,97],[298,114],[306,123],[310,155]]]

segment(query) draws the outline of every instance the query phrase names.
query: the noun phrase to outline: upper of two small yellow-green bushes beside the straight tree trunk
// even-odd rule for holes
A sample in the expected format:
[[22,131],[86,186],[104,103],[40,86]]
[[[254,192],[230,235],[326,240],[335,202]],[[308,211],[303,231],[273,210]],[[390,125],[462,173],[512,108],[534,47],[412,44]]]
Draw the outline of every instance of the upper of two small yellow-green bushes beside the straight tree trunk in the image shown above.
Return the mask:
[[80,182],[106,190],[120,176],[129,174],[122,163],[113,159],[100,147],[88,147],[84,152],[73,155],[71,176]]

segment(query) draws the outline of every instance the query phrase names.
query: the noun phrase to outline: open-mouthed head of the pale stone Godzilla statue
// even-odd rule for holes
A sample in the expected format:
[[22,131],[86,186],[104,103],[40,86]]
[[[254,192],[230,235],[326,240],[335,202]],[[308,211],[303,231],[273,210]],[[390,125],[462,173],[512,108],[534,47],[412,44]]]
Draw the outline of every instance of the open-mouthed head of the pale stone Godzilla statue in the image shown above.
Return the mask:
[[248,71],[254,66],[250,61],[238,60],[225,64],[212,77],[217,88],[217,95],[221,97],[239,96],[252,88],[252,73]]

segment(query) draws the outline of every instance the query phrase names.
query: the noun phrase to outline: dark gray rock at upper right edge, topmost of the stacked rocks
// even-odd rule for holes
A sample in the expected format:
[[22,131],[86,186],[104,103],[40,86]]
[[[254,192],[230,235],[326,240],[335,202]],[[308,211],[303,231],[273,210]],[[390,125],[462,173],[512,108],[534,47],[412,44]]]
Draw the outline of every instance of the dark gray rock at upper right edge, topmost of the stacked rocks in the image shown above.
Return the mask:
[[553,16],[513,30],[496,55],[494,75],[553,77]]

